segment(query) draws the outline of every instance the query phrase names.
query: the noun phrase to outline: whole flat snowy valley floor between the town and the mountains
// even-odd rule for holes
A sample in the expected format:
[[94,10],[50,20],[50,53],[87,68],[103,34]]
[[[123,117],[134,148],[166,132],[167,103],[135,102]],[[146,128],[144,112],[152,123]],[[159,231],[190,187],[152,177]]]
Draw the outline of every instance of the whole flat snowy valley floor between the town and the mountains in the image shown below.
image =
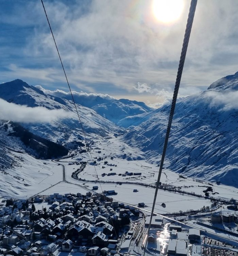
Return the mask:
[[[78,192],[85,194],[87,190],[84,189],[83,186],[87,189],[92,189],[92,186],[95,185],[99,187],[97,192],[101,192],[101,187],[98,182],[79,181],[71,177],[72,172],[76,171],[81,166],[76,163],[83,160],[87,162],[87,165],[79,174],[79,178],[90,181],[122,182],[121,185],[116,183],[101,183],[102,190],[115,190],[117,195],[112,197],[120,202],[131,205],[138,205],[139,202],[144,202],[147,205],[145,210],[150,210],[152,207],[154,188],[136,184],[124,184],[124,182],[155,184],[158,175],[158,167],[150,164],[145,157],[143,157],[143,152],[136,148],[129,147],[118,138],[95,142],[92,146],[91,154],[93,161],[97,163],[96,166],[92,165],[92,160],[88,152],[79,154],[75,151],[74,157],[60,160],[60,163],[65,166],[66,181],[68,183],[63,182],[63,167],[58,165],[57,162],[36,160],[26,154],[15,154],[16,157],[21,157],[22,161],[18,167],[8,170],[7,172],[9,174],[1,174],[0,179],[2,186],[0,194],[2,197],[27,198],[38,193],[41,195]],[[99,160],[100,158],[101,160]],[[105,163],[105,161],[107,161],[107,163]],[[107,175],[112,172],[116,174]],[[126,172],[141,173],[141,175],[126,175]],[[102,176],[103,173],[105,173],[105,176]],[[183,177],[179,177],[179,174],[168,169],[163,170],[160,181],[167,185],[180,187],[181,190],[202,195],[204,194],[203,190],[206,189],[205,186],[210,186],[211,184],[193,180],[192,178],[184,179]],[[213,193],[216,192],[216,194],[212,195],[214,197],[225,199],[231,199],[233,197],[238,200],[238,189],[235,187],[212,183],[212,188]],[[138,192],[133,192],[133,189],[137,189]],[[166,208],[161,206],[163,202],[166,204]],[[204,205],[207,206],[210,204],[209,200],[204,198],[159,189],[155,211],[167,213],[180,210],[196,210]]]

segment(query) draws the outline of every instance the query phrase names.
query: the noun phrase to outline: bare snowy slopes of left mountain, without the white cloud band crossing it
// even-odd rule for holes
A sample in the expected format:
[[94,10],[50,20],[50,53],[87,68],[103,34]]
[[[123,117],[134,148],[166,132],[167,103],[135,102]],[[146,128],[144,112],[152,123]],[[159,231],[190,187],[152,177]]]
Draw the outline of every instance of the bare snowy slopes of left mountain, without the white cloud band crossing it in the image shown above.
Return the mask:
[[[53,120],[49,123],[22,123],[34,134],[52,141],[78,141],[83,140],[83,132],[72,101],[56,96],[46,95],[43,91],[30,86],[22,80],[0,85],[0,97],[8,102],[28,107],[41,106],[49,110],[62,109],[69,113],[68,117]],[[88,138],[100,138],[121,133],[123,129],[103,118],[94,110],[77,104],[79,116]]]

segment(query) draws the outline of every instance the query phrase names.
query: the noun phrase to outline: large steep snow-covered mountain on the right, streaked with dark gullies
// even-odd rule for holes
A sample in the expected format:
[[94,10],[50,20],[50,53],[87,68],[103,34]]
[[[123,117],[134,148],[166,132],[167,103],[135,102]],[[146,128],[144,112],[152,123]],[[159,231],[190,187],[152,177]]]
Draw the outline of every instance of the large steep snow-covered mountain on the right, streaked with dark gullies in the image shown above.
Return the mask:
[[[177,102],[165,167],[190,177],[238,186],[237,98],[238,72]],[[159,163],[169,111],[170,106],[163,106],[154,115],[144,115],[145,121],[123,140],[139,145],[148,158]]]

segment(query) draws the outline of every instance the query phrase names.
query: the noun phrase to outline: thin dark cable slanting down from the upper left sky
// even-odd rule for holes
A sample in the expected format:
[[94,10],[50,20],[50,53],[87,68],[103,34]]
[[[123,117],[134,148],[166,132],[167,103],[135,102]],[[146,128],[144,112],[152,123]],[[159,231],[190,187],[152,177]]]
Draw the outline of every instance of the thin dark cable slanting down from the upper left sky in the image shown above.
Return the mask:
[[[55,44],[55,47],[56,47],[58,56],[59,56],[59,58],[60,58],[60,62],[61,62],[62,68],[63,68],[63,70],[64,70],[65,78],[66,78],[66,81],[67,81],[67,84],[68,84],[68,87],[69,87],[69,90],[70,90],[70,94],[71,94],[71,96],[72,96],[73,104],[74,104],[75,110],[76,110],[76,112],[77,112],[77,115],[78,115],[78,118],[79,118],[79,122],[80,122],[80,125],[81,125],[81,128],[82,128],[83,134],[84,134],[86,146],[88,145],[88,152],[89,152],[89,154],[90,154],[90,156],[91,156],[91,159],[92,159],[92,155],[91,155],[91,151],[90,151],[90,148],[89,148],[89,144],[88,144],[87,139],[86,139],[86,134],[85,134],[85,132],[84,132],[83,125],[82,125],[82,122],[81,122],[81,119],[80,119],[80,116],[79,116],[79,112],[78,112],[78,110],[77,110],[77,106],[76,106],[75,101],[74,101],[74,98],[73,98],[73,94],[72,94],[72,91],[71,91],[71,88],[70,88],[70,85],[69,85],[69,82],[68,82],[68,78],[67,78],[67,75],[66,75],[66,72],[65,72],[65,69],[64,69],[64,65],[63,65],[62,59],[61,59],[61,57],[60,57],[60,52],[59,52],[59,50],[58,50],[57,44],[56,44],[55,39],[54,39],[54,34],[53,34],[53,31],[52,31],[51,26],[50,26],[50,22],[49,22],[47,13],[46,13],[46,9],[45,9],[45,5],[44,5],[44,3],[43,3],[43,0],[41,0],[41,3],[42,3],[42,5],[43,5],[43,8],[44,8],[44,11],[45,11],[45,14],[46,14],[46,18],[47,18],[47,21],[48,21],[48,24],[49,24],[49,27],[50,27],[50,31],[51,31],[51,34],[52,34],[52,37],[53,37],[53,40],[54,40],[54,44]],[[94,162],[93,159],[92,159],[92,162]],[[94,165],[94,169],[95,169],[95,172],[96,172],[97,178],[98,178],[98,173],[97,173],[97,170],[96,170],[95,165]],[[100,187],[101,187],[101,189],[102,189],[102,186],[101,186],[100,181],[99,181],[99,184],[100,184]],[[102,192],[103,192],[103,190],[102,190]]]

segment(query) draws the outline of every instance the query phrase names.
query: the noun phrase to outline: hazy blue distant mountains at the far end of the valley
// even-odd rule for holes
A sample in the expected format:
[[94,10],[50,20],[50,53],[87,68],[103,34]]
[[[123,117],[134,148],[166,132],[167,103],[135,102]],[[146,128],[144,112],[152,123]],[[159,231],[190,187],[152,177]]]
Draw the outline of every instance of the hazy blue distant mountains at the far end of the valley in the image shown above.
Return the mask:
[[[41,86],[36,87],[48,96],[56,96],[70,101],[72,99],[71,94],[66,93],[65,91],[50,91]],[[73,96],[76,103],[95,110],[101,116],[124,128],[127,128],[128,126],[126,126],[124,122],[120,122],[121,119],[139,114],[146,114],[154,110],[144,102],[128,99],[117,100],[109,95],[94,93],[87,94],[73,91]]]

